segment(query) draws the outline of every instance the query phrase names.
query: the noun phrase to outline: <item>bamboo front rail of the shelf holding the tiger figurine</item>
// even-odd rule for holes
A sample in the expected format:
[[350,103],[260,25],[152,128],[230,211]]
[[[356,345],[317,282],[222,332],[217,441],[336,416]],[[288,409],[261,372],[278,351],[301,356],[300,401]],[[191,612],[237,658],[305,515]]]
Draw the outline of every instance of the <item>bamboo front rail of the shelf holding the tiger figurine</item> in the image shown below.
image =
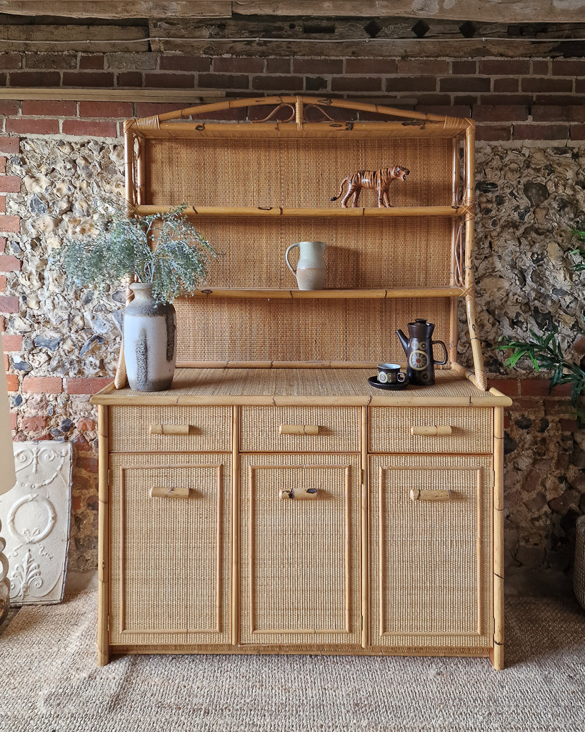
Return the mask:
[[[161,214],[173,209],[173,206],[136,206],[134,211],[138,216],[148,216],[151,214]],[[269,207],[253,207],[253,206],[187,206],[185,209],[186,216],[253,216],[253,217],[450,217],[456,218],[464,216],[467,213],[466,206],[413,206],[411,208],[391,207],[386,208],[299,208],[289,209],[281,206]]]

